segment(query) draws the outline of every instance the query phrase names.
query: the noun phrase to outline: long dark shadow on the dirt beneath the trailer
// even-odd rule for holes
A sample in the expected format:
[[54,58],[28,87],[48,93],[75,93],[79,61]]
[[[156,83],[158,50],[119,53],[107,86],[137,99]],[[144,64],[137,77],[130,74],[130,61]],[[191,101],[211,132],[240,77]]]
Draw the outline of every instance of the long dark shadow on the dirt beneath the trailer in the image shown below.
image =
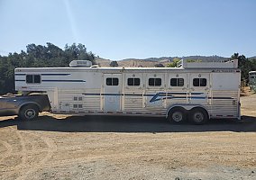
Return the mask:
[[212,120],[206,125],[172,124],[164,118],[123,116],[71,116],[55,119],[41,116],[37,121],[20,121],[17,118],[0,121],[0,128],[17,126],[18,130],[45,130],[62,132],[204,132],[235,131],[255,132],[256,117],[243,116],[243,121]]

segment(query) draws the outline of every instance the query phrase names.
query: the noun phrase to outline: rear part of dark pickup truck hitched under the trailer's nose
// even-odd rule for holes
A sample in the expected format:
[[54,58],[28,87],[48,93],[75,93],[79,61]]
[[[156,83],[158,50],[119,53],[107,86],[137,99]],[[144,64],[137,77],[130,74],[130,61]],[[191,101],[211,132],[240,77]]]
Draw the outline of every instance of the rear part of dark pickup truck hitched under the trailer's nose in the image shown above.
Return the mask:
[[22,120],[34,120],[39,112],[50,111],[46,94],[0,96],[0,116],[18,115]]

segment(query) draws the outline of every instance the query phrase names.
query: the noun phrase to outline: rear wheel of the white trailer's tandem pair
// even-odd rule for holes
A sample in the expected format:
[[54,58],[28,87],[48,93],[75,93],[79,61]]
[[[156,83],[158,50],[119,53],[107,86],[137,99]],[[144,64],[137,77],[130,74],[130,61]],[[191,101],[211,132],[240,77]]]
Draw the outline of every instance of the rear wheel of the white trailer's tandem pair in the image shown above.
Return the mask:
[[203,108],[194,108],[189,112],[189,120],[194,124],[205,124],[208,119],[208,113]]

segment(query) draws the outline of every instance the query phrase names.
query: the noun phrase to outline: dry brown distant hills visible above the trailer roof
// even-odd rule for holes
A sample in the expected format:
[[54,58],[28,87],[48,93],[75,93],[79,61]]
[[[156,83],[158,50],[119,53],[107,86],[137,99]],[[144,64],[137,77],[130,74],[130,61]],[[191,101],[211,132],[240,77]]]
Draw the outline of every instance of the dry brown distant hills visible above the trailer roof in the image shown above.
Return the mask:
[[[165,67],[173,61],[174,58],[180,57],[160,57],[160,58],[125,58],[123,60],[118,60],[119,67],[155,67],[156,64],[162,64]],[[187,56],[182,57],[183,59],[211,59],[211,60],[219,60],[219,59],[227,59],[219,56]],[[96,58],[96,64],[99,64],[100,67],[109,67],[109,64],[112,60],[105,58]]]

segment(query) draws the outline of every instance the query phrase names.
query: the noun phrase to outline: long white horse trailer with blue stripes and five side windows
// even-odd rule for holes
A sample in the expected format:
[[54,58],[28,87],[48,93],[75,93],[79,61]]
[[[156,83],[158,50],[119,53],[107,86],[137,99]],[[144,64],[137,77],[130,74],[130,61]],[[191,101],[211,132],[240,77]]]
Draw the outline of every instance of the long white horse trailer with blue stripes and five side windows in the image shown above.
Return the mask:
[[202,124],[241,118],[240,76],[237,59],[181,60],[178,67],[21,67],[15,69],[15,89],[48,94],[53,113]]

